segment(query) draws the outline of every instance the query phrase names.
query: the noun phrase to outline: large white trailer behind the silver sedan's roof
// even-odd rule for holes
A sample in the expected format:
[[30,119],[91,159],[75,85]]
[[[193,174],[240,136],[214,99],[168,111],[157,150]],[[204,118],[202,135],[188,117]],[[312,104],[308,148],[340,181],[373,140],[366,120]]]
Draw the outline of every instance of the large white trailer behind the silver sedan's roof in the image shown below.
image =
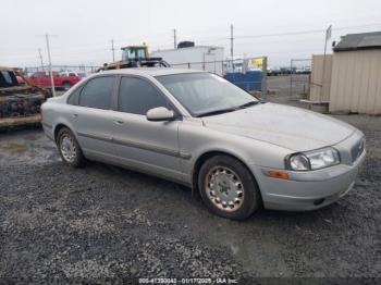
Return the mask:
[[223,75],[224,49],[222,47],[195,46],[181,49],[156,50],[151,58],[162,58],[171,67],[205,70]]

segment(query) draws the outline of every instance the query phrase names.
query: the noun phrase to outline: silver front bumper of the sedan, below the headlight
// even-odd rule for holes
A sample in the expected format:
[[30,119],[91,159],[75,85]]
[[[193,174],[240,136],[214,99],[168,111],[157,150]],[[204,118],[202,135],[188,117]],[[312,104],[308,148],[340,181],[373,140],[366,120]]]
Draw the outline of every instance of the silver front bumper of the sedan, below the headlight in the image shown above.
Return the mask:
[[308,211],[325,207],[345,196],[355,185],[366,150],[355,162],[309,171],[288,173],[288,179],[267,176],[267,168],[250,165],[261,190],[266,209]]

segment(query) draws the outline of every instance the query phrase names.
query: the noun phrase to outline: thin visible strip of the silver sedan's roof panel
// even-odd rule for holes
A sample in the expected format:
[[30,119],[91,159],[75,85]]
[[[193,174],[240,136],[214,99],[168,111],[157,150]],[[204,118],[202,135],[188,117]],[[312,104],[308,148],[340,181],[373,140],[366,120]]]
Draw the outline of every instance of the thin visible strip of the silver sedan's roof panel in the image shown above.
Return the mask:
[[162,76],[184,73],[200,73],[204,71],[190,70],[190,69],[171,69],[171,67],[136,67],[136,69],[120,69],[103,71],[100,74],[135,74],[135,75],[149,75],[149,76]]

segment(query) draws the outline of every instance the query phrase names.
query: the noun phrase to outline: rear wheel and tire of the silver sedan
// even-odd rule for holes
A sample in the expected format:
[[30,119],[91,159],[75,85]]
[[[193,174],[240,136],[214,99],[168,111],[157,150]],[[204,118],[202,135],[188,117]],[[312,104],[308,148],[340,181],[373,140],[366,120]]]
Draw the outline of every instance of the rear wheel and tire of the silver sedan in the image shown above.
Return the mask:
[[85,163],[85,157],[78,141],[67,127],[62,127],[57,136],[57,147],[62,161],[73,168],[79,168]]

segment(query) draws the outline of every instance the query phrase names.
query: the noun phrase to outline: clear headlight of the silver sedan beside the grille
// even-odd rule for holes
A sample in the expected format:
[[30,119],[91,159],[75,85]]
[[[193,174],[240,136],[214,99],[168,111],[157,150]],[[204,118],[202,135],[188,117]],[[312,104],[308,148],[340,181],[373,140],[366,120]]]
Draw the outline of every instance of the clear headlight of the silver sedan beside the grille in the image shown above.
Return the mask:
[[286,158],[286,169],[296,171],[320,170],[340,163],[340,156],[334,148],[323,148],[291,154]]

